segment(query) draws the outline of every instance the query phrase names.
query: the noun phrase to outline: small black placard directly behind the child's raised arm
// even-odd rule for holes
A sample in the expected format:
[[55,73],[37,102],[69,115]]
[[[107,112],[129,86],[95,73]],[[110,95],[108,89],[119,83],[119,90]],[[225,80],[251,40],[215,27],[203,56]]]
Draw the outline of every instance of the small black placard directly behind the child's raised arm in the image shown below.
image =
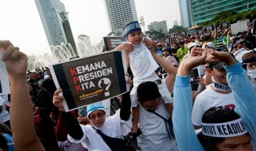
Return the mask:
[[113,50],[121,45],[123,42],[126,42],[126,35],[120,37],[103,37],[105,46],[107,50]]

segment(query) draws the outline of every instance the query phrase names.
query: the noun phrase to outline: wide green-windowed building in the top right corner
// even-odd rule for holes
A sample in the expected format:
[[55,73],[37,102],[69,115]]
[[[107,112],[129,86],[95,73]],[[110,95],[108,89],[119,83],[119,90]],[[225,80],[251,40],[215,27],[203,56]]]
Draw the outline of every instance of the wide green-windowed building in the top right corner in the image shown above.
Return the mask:
[[190,0],[192,11],[192,22],[198,25],[202,22],[213,19],[216,14],[225,10],[236,10],[238,12],[256,8],[255,0]]

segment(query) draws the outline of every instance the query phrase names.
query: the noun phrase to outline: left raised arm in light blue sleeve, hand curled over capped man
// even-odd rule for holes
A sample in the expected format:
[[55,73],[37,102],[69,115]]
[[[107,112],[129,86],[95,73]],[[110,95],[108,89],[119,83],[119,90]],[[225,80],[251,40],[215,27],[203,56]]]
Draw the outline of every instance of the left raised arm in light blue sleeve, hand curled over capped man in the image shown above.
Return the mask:
[[189,83],[190,69],[203,65],[208,51],[192,49],[189,57],[179,65],[173,98],[173,129],[179,150],[204,150],[195,134],[192,124],[192,89]]

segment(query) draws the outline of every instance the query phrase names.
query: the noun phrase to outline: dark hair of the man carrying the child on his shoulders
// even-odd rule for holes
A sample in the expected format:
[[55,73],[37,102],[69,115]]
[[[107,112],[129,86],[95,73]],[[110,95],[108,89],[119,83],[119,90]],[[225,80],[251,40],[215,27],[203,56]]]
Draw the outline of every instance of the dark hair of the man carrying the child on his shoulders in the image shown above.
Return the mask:
[[137,88],[138,100],[140,103],[152,100],[161,96],[158,86],[154,82],[141,83]]

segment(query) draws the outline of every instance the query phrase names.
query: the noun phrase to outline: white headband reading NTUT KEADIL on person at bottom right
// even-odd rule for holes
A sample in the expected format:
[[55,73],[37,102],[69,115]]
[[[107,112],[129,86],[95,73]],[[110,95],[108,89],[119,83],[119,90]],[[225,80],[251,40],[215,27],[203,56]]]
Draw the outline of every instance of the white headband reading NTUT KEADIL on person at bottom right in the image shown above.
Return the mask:
[[235,137],[247,133],[241,118],[226,123],[202,123],[202,131],[205,136]]

